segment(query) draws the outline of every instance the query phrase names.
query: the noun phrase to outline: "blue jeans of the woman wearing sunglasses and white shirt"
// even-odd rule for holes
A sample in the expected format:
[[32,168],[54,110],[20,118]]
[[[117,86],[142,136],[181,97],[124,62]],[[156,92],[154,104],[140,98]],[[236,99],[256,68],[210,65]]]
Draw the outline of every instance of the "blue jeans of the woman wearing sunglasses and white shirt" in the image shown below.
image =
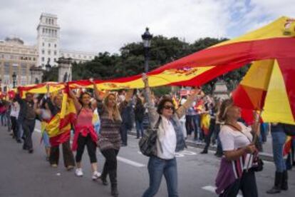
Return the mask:
[[160,188],[164,174],[169,197],[177,197],[177,163],[176,158],[164,160],[151,156],[148,161],[148,173],[150,175],[150,187],[143,193],[143,197],[155,196]]

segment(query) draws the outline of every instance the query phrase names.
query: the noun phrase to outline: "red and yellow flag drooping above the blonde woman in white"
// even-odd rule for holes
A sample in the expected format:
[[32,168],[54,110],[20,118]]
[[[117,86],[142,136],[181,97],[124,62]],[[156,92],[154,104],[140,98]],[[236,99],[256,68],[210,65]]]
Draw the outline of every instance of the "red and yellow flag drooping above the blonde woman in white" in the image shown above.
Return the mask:
[[234,103],[262,111],[264,122],[295,124],[295,58],[256,61],[233,92]]

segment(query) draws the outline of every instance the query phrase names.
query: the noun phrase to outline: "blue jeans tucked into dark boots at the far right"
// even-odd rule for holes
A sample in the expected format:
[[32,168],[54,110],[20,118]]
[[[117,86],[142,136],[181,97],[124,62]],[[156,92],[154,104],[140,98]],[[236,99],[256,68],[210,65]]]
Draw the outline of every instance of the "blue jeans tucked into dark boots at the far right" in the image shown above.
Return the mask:
[[271,126],[272,151],[274,153],[274,165],[277,172],[286,171],[286,163],[283,157],[283,148],[286,141],[286,133],[281,126]]

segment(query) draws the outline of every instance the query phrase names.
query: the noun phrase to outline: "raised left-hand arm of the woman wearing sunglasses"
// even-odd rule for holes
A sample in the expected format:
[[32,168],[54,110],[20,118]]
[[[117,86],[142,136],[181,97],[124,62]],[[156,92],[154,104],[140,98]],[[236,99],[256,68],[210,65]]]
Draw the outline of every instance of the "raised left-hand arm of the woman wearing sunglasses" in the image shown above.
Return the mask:
[[148,85],[148,76],[146,74],[143,74],[143,83],[145,84],[144,96],[145,103],[147,103],[146,107],[148,108],[148,117],[150,120],[150,124],[154,126],[160,115],[157,113],[155,103],[153,103],[152,101],[152,94],[150,92],[150,86]]

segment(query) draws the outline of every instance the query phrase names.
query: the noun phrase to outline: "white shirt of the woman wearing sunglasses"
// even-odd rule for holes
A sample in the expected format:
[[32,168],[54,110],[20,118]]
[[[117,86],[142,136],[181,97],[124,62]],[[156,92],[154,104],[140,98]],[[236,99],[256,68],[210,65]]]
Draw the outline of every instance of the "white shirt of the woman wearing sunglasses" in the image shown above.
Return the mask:
[[[176,133],[172,125],[164,116],[157,130],[157,157],[163,159],[172,159],[175,157]],[[160,146],[162,146],[162,151]]]

